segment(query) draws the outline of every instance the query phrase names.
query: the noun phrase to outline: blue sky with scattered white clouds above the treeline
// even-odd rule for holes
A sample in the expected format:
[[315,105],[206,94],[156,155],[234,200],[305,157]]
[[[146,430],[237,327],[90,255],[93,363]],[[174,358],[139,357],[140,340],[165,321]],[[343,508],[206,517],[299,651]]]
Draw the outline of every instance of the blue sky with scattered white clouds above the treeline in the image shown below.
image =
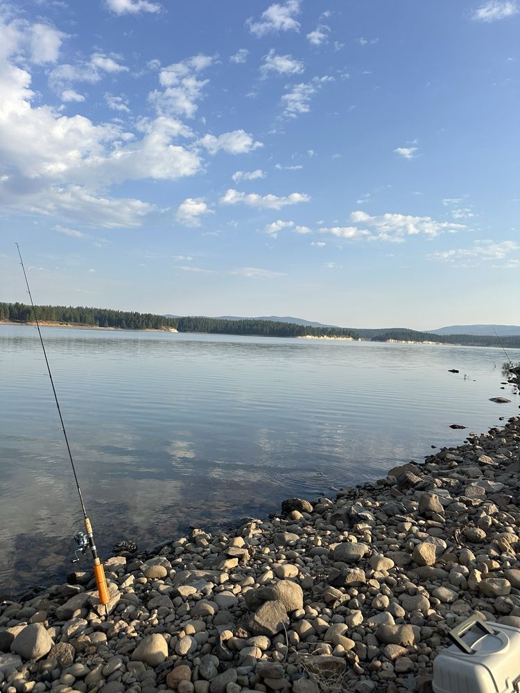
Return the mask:
[[0,9],[0,299],[519,322],[516,1]]

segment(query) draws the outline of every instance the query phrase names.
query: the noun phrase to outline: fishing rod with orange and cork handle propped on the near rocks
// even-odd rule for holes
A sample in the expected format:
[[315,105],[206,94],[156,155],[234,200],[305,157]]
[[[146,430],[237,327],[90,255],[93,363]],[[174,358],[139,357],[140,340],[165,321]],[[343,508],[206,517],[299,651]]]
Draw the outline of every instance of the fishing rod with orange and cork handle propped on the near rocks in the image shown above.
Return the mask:
[[[76,489],[78,489],[78,495],[80,497],[80,504],[81,504],[81,510],[83,512],[83,520],[85,522],[85,532],[78,532],[76,536],[74,537],[74,540],[78,544],[78,549],[76,550],[76,559],[73,559],[73,563],[76,563],[80,559],[78,558],[78,551],[81,552],[82,554],[85,554],[88,549],[90,549],[90,552],[92,553],[92,559],[94,561],[94,577],[96,579],[96,586],[98,588],[98,595],[99,595],[99,601],[101,604],[105,606],[105,610],[107,611],[106,605],[108,602],[110,602],[110,593],[108,591],[108,586],[107,586],[107,579],[105,577],[105,568],[103,568],[103,563],[101,563],[101,560],[99,559],[98,556],[98,550],[96,549],[96,544],[94,543],[94,533],[92,532],[92,524],[90,523],[90,520],[87,516],[87,509],[85,508],[85,502],[83,502],[83,495],[81,493],[80,489],[80,484],[78,482],[78,475],[76,474],[76,467],[74,466],[74,461],[72,459],[72,453],[71,453],[71,446],[69,445],[69,438],[67,437],[67,430],[65,429],[65,424],[63,421],[63,416],[62,416],[62,410],[60,409],[60,403],[58,401],[58,395],[56,394],[56,389],[54,387],[54,380],[53,376],[51,373],[51,366],[49,365],[49,359],[47,358],[47,352],[45,350],[45,344],[44,340],[42,337],[42,331],[40,330],[40,322],[38,322],[38,317],[36,315],[36,309],[33,301],[33,295],[31,294],[31,288],[29,287],[29,282],[27,279],[27,274],[25,271],[25,266],[24,266],[24,261],[21,258],[21,252],[20,252],[20,247],[18,243],[16,243],[16,247],[18,249],[18,254],[20,257],[20,265],[21,269],[24,270],[24,277],[25,277],[25,283],[27,286],[27,292],[29,295],[29,298],[31,299],[31,306],[33,307],[33,315],[34,319],[36,322],[36,327],[38,330],[38,335],[40,335],[40,342],[42,344],[42,351],[44,353],[44,358],[45,358],[45,363],[47,367],[47,372],[49,373],[49,378],[51,380],[51,387],[53,389],[53,395],[54,395],[54,401],[56,403],[56,407],[58,409],[58,416],[60,416],[60,422],[62,425],[62,432],[63,432],[63,437],[65,439],[65,444],[67,446],[67,453],[69,453],[69,459],[71,461],[71,466],[72,466],[72,472],[74,475],[74,481],[76,482]],[[107,611],[108,613],[108,611]]]

